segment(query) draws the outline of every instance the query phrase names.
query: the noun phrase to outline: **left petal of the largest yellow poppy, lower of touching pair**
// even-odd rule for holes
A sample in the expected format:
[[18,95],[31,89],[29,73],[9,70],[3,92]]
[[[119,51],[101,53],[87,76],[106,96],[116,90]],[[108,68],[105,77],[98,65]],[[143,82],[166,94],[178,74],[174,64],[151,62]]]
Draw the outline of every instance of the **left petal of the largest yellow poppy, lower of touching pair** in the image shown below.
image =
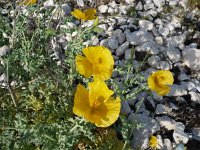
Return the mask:
[[74,107],[73,113],[78,116],[85,116],[85,114],[89,114],[90,106],[89,106],[89,92],[79,84],[77,86],[77,90],[74,98]]

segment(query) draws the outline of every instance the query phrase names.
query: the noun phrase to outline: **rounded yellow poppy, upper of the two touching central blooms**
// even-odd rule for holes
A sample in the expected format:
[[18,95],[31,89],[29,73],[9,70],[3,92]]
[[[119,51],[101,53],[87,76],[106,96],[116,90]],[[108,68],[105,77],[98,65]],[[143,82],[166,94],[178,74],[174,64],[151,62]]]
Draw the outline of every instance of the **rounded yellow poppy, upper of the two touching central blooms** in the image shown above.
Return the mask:
[[90,46],[83,49],[83,54],[76,56],[76,67],[81,75],[86,78],[93,76],[101,80],[111,77],[114,59],[109,49],[104,46]]

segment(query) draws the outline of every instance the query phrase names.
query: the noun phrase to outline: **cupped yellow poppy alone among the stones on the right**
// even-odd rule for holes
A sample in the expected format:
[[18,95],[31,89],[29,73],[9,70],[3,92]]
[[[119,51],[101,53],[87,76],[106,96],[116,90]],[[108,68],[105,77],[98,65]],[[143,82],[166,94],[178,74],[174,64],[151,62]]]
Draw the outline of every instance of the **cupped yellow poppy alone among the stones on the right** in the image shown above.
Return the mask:
[[167,70],[159,70],[148,77],[149,88],[160,96],[170,92],[169,85],[172,85],[173,82],[173,75]]

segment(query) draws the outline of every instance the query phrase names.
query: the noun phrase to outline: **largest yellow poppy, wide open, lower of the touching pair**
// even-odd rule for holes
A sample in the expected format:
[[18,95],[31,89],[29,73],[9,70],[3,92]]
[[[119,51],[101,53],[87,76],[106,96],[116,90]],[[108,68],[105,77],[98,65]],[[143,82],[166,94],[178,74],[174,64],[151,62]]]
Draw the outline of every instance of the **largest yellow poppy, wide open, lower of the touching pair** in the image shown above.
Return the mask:
[[77,86],[74,98],[73,112],[97,127],[108,127],[113,124],[120,112],[120,98],[111,97],[113,91],[109,90],[104,81],[95,79],[89,83],[89,89],[82,85]]

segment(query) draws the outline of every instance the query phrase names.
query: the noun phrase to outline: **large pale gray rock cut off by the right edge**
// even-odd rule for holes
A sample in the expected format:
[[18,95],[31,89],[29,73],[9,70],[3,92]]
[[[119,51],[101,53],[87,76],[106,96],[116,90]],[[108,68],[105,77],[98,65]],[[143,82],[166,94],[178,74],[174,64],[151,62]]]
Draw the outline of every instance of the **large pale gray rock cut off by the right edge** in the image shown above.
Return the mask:
[[200,49],[189,48],[182,51],[183,63],[196,71],[200,71]]

